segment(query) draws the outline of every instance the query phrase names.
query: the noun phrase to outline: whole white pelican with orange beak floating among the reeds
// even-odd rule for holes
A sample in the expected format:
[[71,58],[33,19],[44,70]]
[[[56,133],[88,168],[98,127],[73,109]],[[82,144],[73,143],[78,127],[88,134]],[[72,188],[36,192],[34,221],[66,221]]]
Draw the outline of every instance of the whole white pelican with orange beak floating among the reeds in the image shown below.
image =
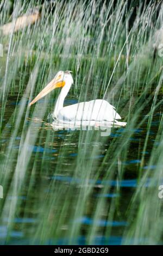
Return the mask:
[[115,124],[115,126],[125,126],[126,123],[119,122],[120,115],[115,111],[115,107],[105,100],[91,100],[80,102],[64,107],[65,97],[73,84],[71,71],[59,71],[54,79],[30,102],[32,105],[53,89],[61,87],[61,92],[54,108],[53,118],[59,123],[68,124]]

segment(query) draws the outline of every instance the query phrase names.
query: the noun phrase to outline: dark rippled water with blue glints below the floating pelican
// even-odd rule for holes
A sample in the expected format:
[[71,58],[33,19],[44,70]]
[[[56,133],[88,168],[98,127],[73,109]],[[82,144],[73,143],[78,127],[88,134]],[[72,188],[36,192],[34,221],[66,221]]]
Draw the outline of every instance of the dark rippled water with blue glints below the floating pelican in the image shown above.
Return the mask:
[[[69,105],[76,103],[76,100],[69,97],[65,103]],[[41,101],[39,104],[41,107]],[[0,141],[1,162],[5,159],[5,152],[9,147],[12,131],[11,117],[15,106],[16,101],[14,97],[11,97],[11,100],[7,102],[8,111],[4,115],[3,137],[1,137]],[[104,160],[110,143],[114,139],[118,140],[121,138],[126,131],[125,127],[112,129],[108,138],[101,137],[99,140],[94,141],[92,139],[91,144],[87,141],[86,145],[86,141],[83,143],[82,139],[79,138],[79,131],[53,131],[52,127],[46,126],[44,123],[38,126],[37,122],[33,119],[27,119],[25,122],[27,129],[30,123],[33,122],[34,129],[39,129],[39,134],[34,145],[27,145],[27,152],[31,155],[21,192],[13,196],[11,192],[7,191],[7,188],[4,190],[5,203],[11,202],[15,197],[19,203],[12,219],[4,215],[1,218],[0,243],[61,245],[70,243],[69,234],[71,234],[71,243],[84,245],[87,243],[87,234],[92,226],[96,225],[97,231],[92,239],[93,244],[121,244],[123,232],[129,226],[127,209],[136,190],[141,156],[145,154],[143,171],[146,172],[160,118],[160,113],[154,114],[152,127],[149,132],[149,142],[145,152],[143,152],[143,144],[146,138],[147,123],[143,124],[142,127],[135,127],[133,129],[133,136],[130,137],[128,148],[129,154],[127,154],[125,161],[121,161],[121,168],[125,170],[122,179],[120,177],[117,178],[119,175],[117,171],[118,158],[113,166],[113,170],[116,170],[116,172],[114,171],[112,179],[107,179],[107,176],[105,176],[105,172],[111,164],[111,156],[106,159],[101,172],[98,175],[96,174],[98,173],[98,167],[101,166]],[[47,119],[44,121],[48,122]],[[20,148],[22,127],[23,120],[12,144],[12,153],[14,152],[15,156]],[[92,131],[84,131],[82,134],[86,134],[86,132],[91,134]],[[92,150],[95,148],[97,150],[92,154]],[[85,154],[85,163],[83,163],[81,156],[82,150],[84,150],[83,154]],[[78,159],[79,152],[80,156]],[[8,181],[8,186],[12,180],[16,161],[17,159],[12,160],[11,175],[5,180],[6,182]],[[85,174],[81,174],[80,172],[83,168],[89,167],[87,165],[89,162],[91,162],[90,169],[86,170]],[[150,169],[153,171],[155,166],[151,166]],[[87,175],[87,172],[90,172],[90,174]],[[82,216],[80,216],[80,207],[77,203],[80,200],[80,193],[83,189],[81,187],[84,186],[85,188],[91,187],[91,189],[85,202],[85,209],[82,212]],[[109,191],[103,192],[103,188],[107,186]],[[148,180],[146,186],[148,186]],[[102,199],[105,202],[103,204],[103,215],[101,214],[101,217],[95,220],[94,214],[97,204],[102,202]],[[4,199],[0,200],[0,203],[3,204]],[[111,202],[117,203],[118,206],[116,206],[115,213],[109,218],[108,205]],[[79,217],[78,214],[74,214],[76,209],[79,210]],[[64,216],[64,220],[61,219],[61,215]],[[46,221],[47,216],[49,220]],[[60,227],[57,225],[59,220]],[[41,226],[42,221],[46,223],[45,229]],[[51,230],[53,223],[55,228]],[[72,235],[72,228],[78,225],[80,226],[79,231],[77,233],[74,232]],[[48,235],[42,235],[40,230],[44,230],[45,233],[48,230],[49,233]],[[110,230],[110,232],[107,234],[106,230]]]

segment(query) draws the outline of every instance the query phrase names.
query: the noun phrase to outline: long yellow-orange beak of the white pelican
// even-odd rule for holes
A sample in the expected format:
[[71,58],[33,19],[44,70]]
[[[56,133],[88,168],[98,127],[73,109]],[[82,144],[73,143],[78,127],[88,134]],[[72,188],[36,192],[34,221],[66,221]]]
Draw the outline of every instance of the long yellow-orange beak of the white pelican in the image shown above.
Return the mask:
[[58,77],[54,78],[51,82],[49,82],[45,88],[43,88],[43,90],[34,98],[34,100],[29,103],[29,106],[33,105],[36,101],[40,100],[42,97],[52,92],[52,90],[54,90],[55,88],[64,86],[65,81],[62,80],[62,76],[59,75]]

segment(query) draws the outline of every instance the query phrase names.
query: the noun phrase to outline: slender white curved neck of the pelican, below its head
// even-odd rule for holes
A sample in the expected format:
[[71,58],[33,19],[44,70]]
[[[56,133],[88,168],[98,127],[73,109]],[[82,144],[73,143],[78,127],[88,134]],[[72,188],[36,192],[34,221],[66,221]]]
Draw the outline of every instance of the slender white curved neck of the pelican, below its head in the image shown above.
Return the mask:
[[62,87],[62,89],[61,89],[61,92],[60,92],[60,94],[59,94],[59,96],[58,96],[58,99],[57,99],[57,102],[56,102],[55,108],[54,108],[53,116],[54,116],[55,118],[58,117],[58,113],[59,113],[60,109],[62,109],[62,108],[64,107],[64,100],[65,100],[65,97],[66,97],[67,93],[68,93],[69,90],[70,90],[71,84],[72,84],[71,81],[70,81],[70,82],[67,82],[67,83],[65,84],[65,86]]

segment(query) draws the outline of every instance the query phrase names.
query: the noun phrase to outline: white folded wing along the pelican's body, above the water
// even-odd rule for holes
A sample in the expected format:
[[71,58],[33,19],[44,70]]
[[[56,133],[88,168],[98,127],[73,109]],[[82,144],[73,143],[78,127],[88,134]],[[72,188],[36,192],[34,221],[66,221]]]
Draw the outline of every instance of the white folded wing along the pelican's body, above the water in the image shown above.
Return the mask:
[[66,106],[59,111],[59,119],[74,120],[107,120],[121,119],[114,107],[105,100],[91,100]]

